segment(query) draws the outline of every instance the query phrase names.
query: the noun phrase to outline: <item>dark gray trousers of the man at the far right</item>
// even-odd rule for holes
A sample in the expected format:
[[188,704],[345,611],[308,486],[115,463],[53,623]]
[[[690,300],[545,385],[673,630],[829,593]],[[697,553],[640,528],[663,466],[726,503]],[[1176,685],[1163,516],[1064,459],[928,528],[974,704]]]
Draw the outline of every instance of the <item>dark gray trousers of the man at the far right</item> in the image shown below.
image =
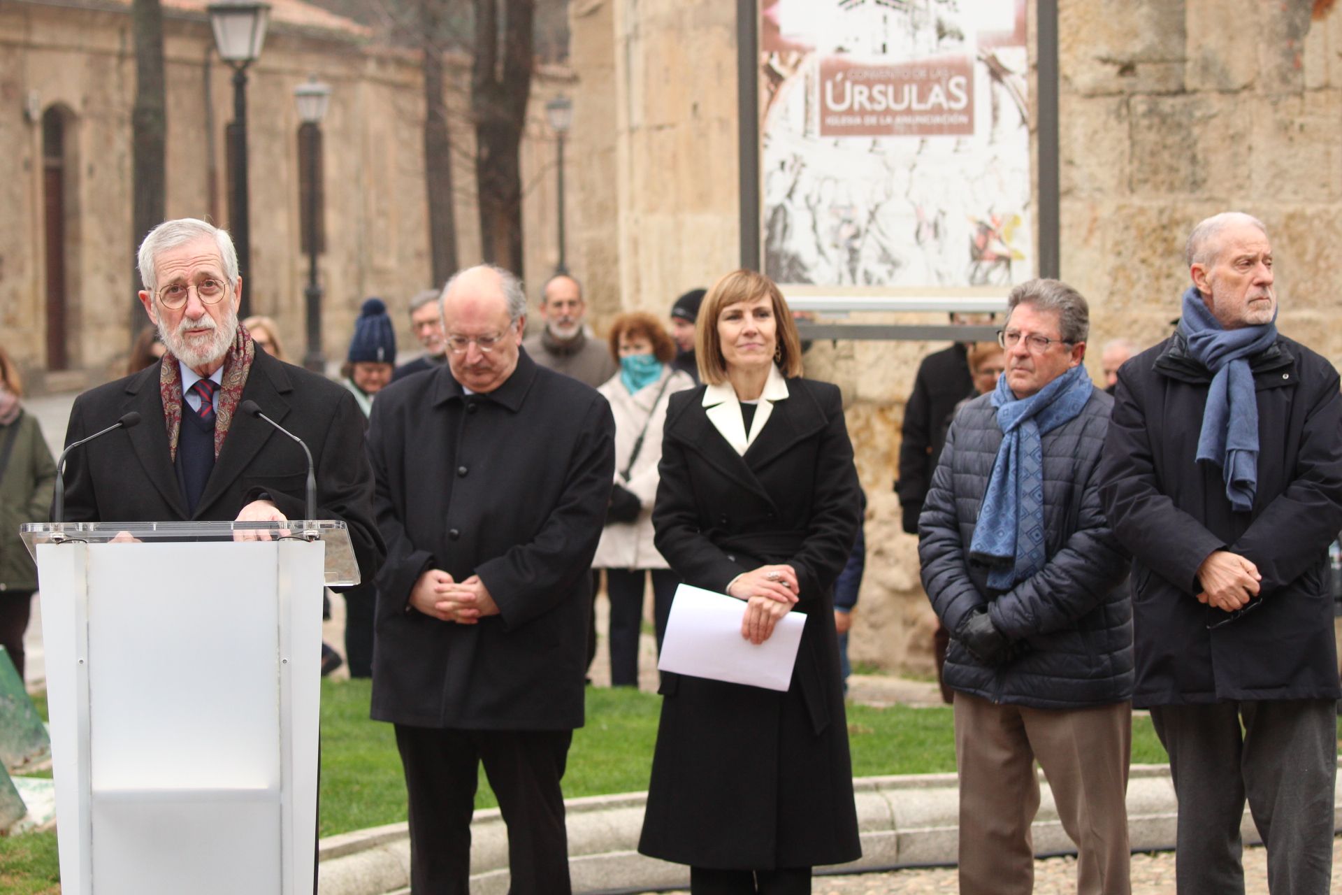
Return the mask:
[[[1178,800],[1180,895],[1243,895],[1248,800],[1274,895],[1325,895],[1333,875],[1331,699],[1153,706]],[[1241,727],[1243,723],[1243,727]]]

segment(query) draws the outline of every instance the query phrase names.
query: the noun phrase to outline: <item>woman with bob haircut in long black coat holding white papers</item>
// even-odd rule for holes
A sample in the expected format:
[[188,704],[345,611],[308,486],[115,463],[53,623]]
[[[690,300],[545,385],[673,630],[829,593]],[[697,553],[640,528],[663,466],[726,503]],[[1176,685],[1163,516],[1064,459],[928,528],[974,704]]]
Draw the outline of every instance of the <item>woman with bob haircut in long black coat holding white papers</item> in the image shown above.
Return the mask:
[[703,385],[671,396],[652,525],[680,581],[742,601],[761,644],[805,615],[786,691],[664,674],[639,851],[690,865],[694,895],[811,891],[862,855],[833,584],[858,533],[839,389],[801,377],[778,287],[719,279],[699,309]]

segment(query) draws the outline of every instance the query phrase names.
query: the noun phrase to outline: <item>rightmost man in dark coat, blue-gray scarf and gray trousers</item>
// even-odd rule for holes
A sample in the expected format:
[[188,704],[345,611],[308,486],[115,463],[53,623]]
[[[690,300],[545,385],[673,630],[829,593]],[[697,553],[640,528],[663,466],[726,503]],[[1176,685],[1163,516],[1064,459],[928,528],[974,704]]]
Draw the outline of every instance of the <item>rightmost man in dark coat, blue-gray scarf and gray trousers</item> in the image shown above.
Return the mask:
[[1327,545],[1342,527],[1333,365],[1276,330],[1255,217],[1188,239],[1178,330],[1118,373],[1100,466],[1133,553],[1137,684],[1170,757],[1180,895],[1243,894],[1244,802],[1274,894],[1333,867],[1338,671]]

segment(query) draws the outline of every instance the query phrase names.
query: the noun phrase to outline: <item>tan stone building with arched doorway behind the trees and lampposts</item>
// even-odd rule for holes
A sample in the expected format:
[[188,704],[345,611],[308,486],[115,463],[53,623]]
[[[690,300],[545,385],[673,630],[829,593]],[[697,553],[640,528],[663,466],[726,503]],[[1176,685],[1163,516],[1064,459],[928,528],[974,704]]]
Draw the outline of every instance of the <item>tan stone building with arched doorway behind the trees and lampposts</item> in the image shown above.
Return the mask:
[[[400,345],[413,353],[404,309],[432,286],[419,55],[376,46],[360,25],[301,0],[271,3],[264,50],[247,72],[252,271],[244,288],[251,310],[274,317],[291,360],[302,356],[307,258],[299,239],[294,87],[317,76],[331,86],[322,122],[325,354],[344,360],[369,295],[388,301]],[[164,3],[166,213],[227,227],[232,71],[215,54],[204,7],[205,0]],[[0,4],[0,208],[7,209],[0,216],[0,333],[36,389],[82,388],[119,374],[132,325],[144,322],[132,270],[129,9],[125,0]],[[446,98],[463,264],[480,258],[468,85],[468,60],[450,58]],[[556,141],[545,103],[572,87],[562,67],[542,67],[533,81],[522,148],[521,274],[534,284],[558,259]],[[576,247],[568,263],[584,274]]]

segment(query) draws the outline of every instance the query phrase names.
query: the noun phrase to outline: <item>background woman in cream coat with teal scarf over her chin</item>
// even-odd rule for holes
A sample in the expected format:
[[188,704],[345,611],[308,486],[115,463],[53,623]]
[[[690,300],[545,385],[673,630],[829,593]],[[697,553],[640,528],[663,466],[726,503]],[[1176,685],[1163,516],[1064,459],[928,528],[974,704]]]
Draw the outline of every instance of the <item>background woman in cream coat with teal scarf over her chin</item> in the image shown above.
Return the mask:
[[615,415],[615,491],[593,568],[605,569],[611,598],[611,686],[639,686],[643,592],[652,578],[658,648],[666,633],[676,577],[652,545],[652,501],[662,460],[662,424],[675,392],[694,380],[672,369],[671,337],[651,314],[621,314],[611,326],[611,356],[620,372],[597,390]]

